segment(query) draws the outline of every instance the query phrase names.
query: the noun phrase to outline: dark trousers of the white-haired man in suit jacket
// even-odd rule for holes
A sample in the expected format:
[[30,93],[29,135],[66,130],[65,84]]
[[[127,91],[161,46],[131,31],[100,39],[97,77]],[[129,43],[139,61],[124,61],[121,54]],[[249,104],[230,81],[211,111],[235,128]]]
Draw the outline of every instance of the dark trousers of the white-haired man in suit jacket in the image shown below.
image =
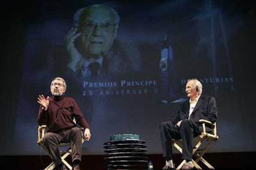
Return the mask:
[[198,136],[200,132],[200,127],[192,119],[183,119],[180,127],[171,122],[161,123],[160,136],[164,158],[167,161],[173,160],[173,142],[171,139],[182,139],[182,159],[191,161],[193,138]]

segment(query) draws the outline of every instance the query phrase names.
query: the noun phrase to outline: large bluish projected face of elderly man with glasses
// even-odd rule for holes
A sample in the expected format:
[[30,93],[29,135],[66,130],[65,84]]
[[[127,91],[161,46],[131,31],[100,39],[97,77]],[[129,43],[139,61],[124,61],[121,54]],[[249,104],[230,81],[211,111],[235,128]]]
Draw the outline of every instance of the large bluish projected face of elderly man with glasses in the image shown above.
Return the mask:
[[84,9],[79,17],[80,50],[84,59],[104,57],[117,35],[119,15],[114,9],[94,5]]

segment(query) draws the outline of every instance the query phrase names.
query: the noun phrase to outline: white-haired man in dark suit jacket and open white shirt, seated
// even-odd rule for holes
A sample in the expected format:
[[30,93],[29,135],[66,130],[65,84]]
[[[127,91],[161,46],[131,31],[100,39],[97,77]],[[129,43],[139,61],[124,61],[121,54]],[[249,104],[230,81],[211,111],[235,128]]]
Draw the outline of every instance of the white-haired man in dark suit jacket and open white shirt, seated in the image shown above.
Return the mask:
[[214,97],[202,95],[202,84],[198,79],[188,79],[186,93],[189,100],[181,103],[176,118],[160,125],[161,144],[166,165],[163,169],[174,169],[171,139],[182,139],[182,159],[186,160],[182,169],[192,169],[192,139],[202,131],[199,119],[214,123],[217,108]]

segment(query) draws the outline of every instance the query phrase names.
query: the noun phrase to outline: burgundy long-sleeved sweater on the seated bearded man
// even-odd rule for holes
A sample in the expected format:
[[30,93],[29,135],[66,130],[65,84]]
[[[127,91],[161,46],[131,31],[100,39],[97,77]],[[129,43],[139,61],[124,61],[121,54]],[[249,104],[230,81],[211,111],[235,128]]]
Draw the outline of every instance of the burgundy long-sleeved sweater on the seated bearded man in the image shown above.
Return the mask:
[[89,128],[89,124],[75,100],[62,95],[50,97],[47,110],[43,110],[40,105],[37,120],[39,125],[48,126],[48,132],[60,132],[76,126],[73,118],[84,129]]

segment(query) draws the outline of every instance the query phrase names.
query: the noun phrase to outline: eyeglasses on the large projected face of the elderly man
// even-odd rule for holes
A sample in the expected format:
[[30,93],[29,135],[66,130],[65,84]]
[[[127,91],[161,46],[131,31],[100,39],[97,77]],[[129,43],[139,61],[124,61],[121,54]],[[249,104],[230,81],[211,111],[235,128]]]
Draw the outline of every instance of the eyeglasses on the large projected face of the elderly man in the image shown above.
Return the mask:
[[82,31],[92,31],[96,28],[96,26],[100,27],[101,30],[108,31],[113,33],[116,30],[118,23],[111,23],[111,22],[85,22],[82,23]]

